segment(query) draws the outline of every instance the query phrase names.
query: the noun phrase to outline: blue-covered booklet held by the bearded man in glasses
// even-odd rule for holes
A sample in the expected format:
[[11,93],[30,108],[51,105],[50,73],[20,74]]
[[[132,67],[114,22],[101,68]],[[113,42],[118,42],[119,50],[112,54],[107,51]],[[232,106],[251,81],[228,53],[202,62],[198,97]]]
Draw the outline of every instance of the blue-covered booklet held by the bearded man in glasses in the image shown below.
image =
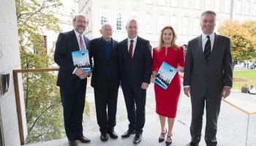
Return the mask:
[[72,52],[73,63],[76,67],[83,69],[84,72],[91,72],[88,50],[78,50]]

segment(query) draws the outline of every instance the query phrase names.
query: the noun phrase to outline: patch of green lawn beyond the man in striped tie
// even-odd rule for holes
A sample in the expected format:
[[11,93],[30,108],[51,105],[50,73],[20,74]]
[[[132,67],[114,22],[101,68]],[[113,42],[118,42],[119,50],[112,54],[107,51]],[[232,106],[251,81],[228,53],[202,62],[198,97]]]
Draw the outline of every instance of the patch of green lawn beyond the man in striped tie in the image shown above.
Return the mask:
[[241,70],[233,72],[233,89],[241,91],[242,86],[245,84],[250,87],[251,85],[256,87],[256,69],[253,70]]

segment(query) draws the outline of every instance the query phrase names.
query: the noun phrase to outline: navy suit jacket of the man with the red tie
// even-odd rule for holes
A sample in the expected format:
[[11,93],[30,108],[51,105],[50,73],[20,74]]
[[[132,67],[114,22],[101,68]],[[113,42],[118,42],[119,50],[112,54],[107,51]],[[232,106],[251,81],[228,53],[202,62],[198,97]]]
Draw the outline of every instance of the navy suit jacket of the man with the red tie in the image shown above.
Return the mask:
[[135,86],[140,88],[142,82],[150,83],[152,72],[152,55],[150,48],[148,40],[138,37],[135,52],[131,60],[128,53],[128,39],[124,39],[118,43],[122,87],[128,88],[134,83]]

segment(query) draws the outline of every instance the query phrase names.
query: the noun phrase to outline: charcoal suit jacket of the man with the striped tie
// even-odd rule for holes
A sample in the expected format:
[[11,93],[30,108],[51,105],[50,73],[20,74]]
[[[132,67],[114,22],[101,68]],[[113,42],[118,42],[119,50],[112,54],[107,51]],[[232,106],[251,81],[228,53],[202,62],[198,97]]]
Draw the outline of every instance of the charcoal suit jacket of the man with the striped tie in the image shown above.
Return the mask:
[[202,36],[192,39],[184,69],[184,85],[190,85],[191,96],[202,97],[207,90],[211,98],[222,98],[223,87],[232,87],[233,83],[230,39],[215,34],[208,62],[203,55]]

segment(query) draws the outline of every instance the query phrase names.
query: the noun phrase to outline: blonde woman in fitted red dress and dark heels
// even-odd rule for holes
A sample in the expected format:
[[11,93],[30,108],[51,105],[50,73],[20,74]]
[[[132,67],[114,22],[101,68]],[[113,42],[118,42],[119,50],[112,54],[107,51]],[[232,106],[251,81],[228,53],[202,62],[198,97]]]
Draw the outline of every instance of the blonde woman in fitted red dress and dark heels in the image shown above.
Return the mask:
[[[176,33],[171,26],[165,26],[162,28],[159,46],[153,50],[153,66],[151,82],[154,83],[157,71],[165,61],[170,66],[177,69],[178,72],[184,72],[184,49],[176,45]],[[154,84],[154,92],[156,99],[156,112],[159,115],[161,123],[161,134],[159,142],[165,140],[165,134],[167,138],[165,140],[166,145],[172,143],[172,130],[173,124],[176,118],[178,99],[181,93],[181,80],[178,72],[173,77],[167,90],[161,88],[159,85]],[[168,131],[165,128],[165,121],[167,118]]]

